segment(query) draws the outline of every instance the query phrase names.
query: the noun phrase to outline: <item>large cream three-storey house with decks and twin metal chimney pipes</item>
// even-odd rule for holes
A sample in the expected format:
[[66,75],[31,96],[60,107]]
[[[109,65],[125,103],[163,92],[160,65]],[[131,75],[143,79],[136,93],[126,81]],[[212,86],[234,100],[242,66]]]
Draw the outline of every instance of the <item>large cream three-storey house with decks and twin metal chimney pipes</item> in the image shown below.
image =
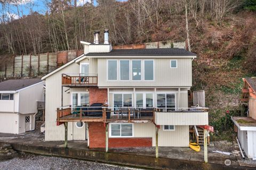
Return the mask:
[[[108,31],[104,44],[98,32],[94,37],[94,44],[81,41],[83,55],[42,78],[45,140],[65,140],[66,132],[68,140],[88,140],[90,148],[188,147],[189,125],[208,124],[206,111],[188,109],[196,54],[179,48],[112,49]],[[101,115],[77,107],[94,103],[106,105]]]

